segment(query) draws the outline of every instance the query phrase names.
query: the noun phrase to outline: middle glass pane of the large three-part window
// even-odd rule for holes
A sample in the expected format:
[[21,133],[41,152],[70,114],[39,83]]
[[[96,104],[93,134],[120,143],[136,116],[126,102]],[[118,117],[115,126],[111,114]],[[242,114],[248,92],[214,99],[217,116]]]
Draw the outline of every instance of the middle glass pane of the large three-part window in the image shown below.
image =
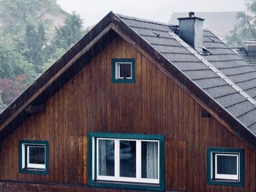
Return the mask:
[[136,142],[120,141],[120,176],[136,177]]

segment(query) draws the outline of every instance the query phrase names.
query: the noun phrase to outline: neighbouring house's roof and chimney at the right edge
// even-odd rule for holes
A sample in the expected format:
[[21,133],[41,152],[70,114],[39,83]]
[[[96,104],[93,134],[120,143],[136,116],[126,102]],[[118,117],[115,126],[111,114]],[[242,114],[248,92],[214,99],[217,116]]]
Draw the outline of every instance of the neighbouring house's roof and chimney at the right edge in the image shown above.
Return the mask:
[[241,58],[256,69],[256,42],[246,41],[244,47],[231,47]]

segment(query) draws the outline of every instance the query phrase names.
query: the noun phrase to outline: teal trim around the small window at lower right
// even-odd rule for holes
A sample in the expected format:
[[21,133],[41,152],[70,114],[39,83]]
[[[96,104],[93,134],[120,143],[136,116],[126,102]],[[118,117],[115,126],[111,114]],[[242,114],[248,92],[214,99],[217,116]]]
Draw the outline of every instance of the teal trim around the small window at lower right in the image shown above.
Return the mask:
[[[227,153],[227,154],[239,154],[238,156],[238,180],[224,180],[224,179],[215,179],[215,158],[214,154],[216,153]],[[213,168],[211,168],[213,166]],[[211,170],[213,172],[211,173]],[[208,147],[206,152],[206,181],[207,185],[230,185],[230,186],[237,186],[243,187],[244,186],[244,150],[243,149],[234,149],[234,148],[214,148]]]

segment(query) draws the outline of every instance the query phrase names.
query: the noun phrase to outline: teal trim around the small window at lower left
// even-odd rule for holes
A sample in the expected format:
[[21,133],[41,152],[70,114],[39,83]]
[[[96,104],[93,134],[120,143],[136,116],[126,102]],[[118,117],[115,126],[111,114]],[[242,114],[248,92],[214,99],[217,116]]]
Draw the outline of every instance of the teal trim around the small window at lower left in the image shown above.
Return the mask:
[[[26,146],[37,146],[37,145],[45,145],[45,169],[28,169],[27,166],[27,147],[25,147],[25,167],[23,164],[23,147]],[[18,154],[18,162],[19,162],[19,172],[23,174],[49,174],[49,142],[48,141],[38,141],[38,140],[20,140],[19,141],[19,154]]]

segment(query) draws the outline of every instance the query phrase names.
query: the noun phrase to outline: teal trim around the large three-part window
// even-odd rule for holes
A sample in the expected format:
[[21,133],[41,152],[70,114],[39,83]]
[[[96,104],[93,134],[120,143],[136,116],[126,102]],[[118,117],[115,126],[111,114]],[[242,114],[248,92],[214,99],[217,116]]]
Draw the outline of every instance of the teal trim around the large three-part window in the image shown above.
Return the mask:
[[[138,189],[150,191],[164,191],[165,190],[165,145],[163,135],[152,134],[118,134],[118,133],[96,133],[90,132],[89,137],[89,164],[88,164],[88,183],[92,187],[102,188],[123,188],[123,189]],[[97,181],[96,180],[96,166],[93,170],[93,164],[96,165],[96,138],[114,138],[114,139],[148,139],[159,141],[159,184],[150,183],[127,183],[127,182],[113,182],[113,181]],[[93,142],[94,141],[94,142]],[[93,162],[94,161],[94,162]],[[94,172],[94,175],[93,175]],[[93,179],[94,177],[94,179]]]

